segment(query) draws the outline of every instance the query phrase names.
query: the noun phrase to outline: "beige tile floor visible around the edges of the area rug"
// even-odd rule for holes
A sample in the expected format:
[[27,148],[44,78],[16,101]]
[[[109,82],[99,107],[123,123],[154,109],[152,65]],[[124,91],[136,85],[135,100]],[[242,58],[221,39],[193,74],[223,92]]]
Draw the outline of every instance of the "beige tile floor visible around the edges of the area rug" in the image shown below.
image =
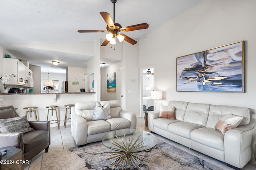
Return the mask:
[[[144,118],[141,118],[141,117],[137,118],[137,129],[149,131],[148,127],[145,126]],[[232,168],[229,168],[228,166],[226,166],[226,164],[224,164],[223,162],[220,162],[214,158],[201,154],[200,152],[197,152],[195,150],[184,147],[169,139],[161,137],[160,135],[157,135],[157,134],[155,135],[158,139],[165,141],[170,145],[174,145],[175,147],[178,147],[186,152],[189,152],[190,154],[198,156],[199,158],[207,160],[208,162],[211,162],[212,164],[215,164],[223,168],[224,170],[233,170]],[[64,126],[60,126],[60,129],[58,129],[58,127],[51,128],[51,145],[49,147],[48,152],[68,149],[75,146],[76,146],[76,143],[71,135],[71,125],[67,125],[66,129]],[[30,164],[25,166],[25,170],[41,170],[43,154],[44,154],[44,150],[40,152],[37,156],[35,156],[32,160],[30,160]],[[248,162],[248,164],[246,164],[246,166],[244,166],[243,170],[256,170],[256,161],[252,159],[250,162]]]

